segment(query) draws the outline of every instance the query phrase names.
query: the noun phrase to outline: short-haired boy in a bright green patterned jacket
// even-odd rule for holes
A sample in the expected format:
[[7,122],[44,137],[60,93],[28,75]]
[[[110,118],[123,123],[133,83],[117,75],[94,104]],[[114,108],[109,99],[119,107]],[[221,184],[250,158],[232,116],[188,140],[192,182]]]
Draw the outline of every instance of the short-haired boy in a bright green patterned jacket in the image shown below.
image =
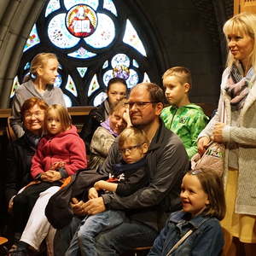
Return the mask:
[[166,128],[180,137],[191,159],[197,153],[197,137],[207,125],[208,118],[201,107],[189,101],[192,81],[188,68],[169,68],[163,75],[163,84],[171,106],[164,108],[160,117]]

